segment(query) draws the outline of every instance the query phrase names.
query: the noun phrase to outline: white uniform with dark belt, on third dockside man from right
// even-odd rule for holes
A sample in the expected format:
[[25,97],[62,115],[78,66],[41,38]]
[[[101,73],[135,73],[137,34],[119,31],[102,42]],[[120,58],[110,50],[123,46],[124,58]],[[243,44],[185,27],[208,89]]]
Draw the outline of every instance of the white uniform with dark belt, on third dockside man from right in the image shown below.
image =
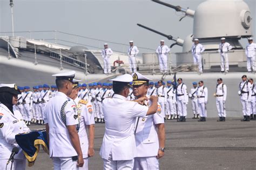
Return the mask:
[[216,86],[216,106],[219,117],[226,118],[227,86],[223,83]]

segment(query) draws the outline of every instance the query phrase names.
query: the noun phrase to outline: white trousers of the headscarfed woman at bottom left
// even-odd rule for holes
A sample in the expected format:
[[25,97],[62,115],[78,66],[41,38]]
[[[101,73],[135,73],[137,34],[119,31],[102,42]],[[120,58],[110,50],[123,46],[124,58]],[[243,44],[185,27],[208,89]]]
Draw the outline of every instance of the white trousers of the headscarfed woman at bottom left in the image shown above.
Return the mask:
[[[8,159],[0,159],[0,169],[4,170],[6,168],[6,163]],[[8,170],[24,170],[26,168],[26,159],[15,159],[14,164],[12,164],[11,169],[11,162],[8,164],[7,168]]]

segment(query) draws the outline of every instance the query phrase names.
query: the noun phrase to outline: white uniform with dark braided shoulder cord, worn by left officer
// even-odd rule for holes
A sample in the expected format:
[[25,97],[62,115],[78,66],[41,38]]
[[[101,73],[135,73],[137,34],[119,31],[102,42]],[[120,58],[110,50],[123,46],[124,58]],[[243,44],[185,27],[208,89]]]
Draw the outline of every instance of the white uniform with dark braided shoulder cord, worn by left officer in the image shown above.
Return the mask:
[[78,169],[77,161],[72,160],[77,152],[66,128],[79,124],[75,102],[57,92],[45,106],[44,123],[49,125],[49,153],[54,169]]

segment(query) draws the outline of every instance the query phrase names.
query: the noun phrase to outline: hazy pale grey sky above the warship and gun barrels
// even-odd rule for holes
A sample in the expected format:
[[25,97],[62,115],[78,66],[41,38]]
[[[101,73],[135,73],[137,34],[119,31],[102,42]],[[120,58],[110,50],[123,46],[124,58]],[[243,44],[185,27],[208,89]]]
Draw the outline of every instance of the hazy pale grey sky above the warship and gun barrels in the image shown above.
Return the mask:
[[[203,0],[165,0],[164,2],[196,10]],[[245,2],[251,9],[254,35],[256,3],[254,0]],[[124,44],[128,44],[132,39],[138,46],[156,49],[160,39],[165,39],[167,45],[172,44],[173,41],[144,30],[137,26],[137,23],[180,38],[185,38],[192,33],[193,29],[193,18],[186,17],[179,22],[182,15],[180,12],[149,0],[14,0],[14,4],[15,31],[59,30]],[[8,0],[0,0],[0,31],[11,31]],[[27,36],[28,34],[21,35]],[[53,38],[54,33],[33,33],[32,37]],[[59,33],[57,37],[72,42],[77,41],[75,37]],[[245,42],[243,40],[242,44]],[[78,39],[78,43],[103,46],[103,42],[82,38]],[[126,46],[113,44],[110,46],[113,50],[126,51]],[[181,50],[179,46],[174,46],[172,49],[173,52]],[[145,50],[142,51],[145,52]]]

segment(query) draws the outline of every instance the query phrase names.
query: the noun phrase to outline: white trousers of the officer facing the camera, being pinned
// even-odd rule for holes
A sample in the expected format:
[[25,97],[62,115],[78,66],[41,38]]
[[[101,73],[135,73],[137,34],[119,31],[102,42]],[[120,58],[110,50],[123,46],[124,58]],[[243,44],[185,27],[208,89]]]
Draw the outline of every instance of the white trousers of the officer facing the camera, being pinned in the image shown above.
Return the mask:
[[159,169],[159,161],[157,157],[134,158],[133,170],[140,169]]

